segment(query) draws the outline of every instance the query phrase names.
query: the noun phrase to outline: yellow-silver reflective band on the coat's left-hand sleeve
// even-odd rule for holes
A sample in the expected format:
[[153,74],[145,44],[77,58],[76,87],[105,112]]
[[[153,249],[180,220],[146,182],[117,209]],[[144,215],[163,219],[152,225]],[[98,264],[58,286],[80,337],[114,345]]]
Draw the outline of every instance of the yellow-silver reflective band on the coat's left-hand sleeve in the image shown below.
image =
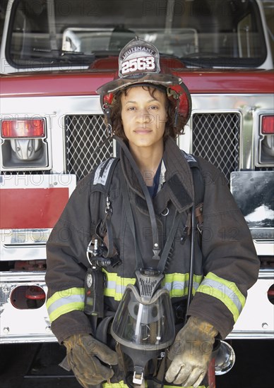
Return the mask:
[[73,287],[57,291],[47,300],[50,322],[73,310],[84,310],[85,289]]

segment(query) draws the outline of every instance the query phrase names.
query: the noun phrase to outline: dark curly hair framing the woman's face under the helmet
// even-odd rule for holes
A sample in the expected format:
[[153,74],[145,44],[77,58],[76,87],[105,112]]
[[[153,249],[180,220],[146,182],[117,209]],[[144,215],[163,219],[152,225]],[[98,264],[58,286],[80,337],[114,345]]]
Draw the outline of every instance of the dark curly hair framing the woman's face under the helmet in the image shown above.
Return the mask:
[[[122,138],[123,140],[126,140],[126,135],[124,133],[124,127],[121,121],[121,96],[127,95],[127,92],[131,87],[132,86],[129,86],[126,89],[117,92],[112,101],[112,109],[110,109],[110,121],[112,123],[112,131],[114,135],[119,136],[119,138]],[[184,119],[179,115],[177,115],[177,117],[175,118],[176,102],[174,100],[172,101],[172,99],[169,99],[167,97],[167,94],[164,91],[165,88],[163,88],[163,90],[160,90],[159,88],[153,86],[142,85],[142,87],[144,90],[148,90],[151,97],[153,98],[155,98],[154,94],[156,90],[160,91],[166,96],[167,123],[165,126],[164,140],[166,140],[168,136],[173,139],[176,139],[178,135],[182,135],[184,133],[184,126],[186,123],[184,122]]]

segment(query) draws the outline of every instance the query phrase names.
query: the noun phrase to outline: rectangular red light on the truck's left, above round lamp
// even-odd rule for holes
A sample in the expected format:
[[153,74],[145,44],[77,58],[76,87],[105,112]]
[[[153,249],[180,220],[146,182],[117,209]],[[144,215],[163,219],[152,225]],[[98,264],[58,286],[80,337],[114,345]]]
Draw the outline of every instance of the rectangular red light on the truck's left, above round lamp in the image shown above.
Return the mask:
[[1,123],[3,138],[42,138],[44,136],[44,120],[3,120]]

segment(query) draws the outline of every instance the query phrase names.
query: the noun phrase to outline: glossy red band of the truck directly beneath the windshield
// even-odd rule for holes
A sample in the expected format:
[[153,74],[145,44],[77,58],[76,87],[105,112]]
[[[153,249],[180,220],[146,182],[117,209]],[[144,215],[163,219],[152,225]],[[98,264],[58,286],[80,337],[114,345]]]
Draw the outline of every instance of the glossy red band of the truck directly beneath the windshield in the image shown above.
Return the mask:
[[[113,59],[112,59],[113,60]],[[2,75],[1,97],[96,95],[98,87],[114,78],[115,71],[86,70],[70,73]],[[102,67],[107,67],[106,63]],[[112,68],[114,66],[110,66]],[[182,65],[183,67],[183,65]],[[274,73],[263,70],[176,71],[191,93],[273,93]]]

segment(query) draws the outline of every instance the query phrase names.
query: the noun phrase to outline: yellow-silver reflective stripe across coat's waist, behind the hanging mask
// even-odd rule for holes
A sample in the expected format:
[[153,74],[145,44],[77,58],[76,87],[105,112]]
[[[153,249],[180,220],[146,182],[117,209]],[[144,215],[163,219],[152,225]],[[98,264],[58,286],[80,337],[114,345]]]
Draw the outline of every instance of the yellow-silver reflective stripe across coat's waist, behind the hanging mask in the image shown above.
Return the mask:
[[[115,301],[121,301],[121,297],[128,284],[135,284],[136,279],[130,277],[119,277],[116,273],[107,272],[103,269],[107,279],[107,287],[104,295],[114,298]],[[203,279],[202,275],[193,277],[193,294],[198,289]],[[171,298],[186,296],[189,291],[189,274],[165,274],[163,288],[169,291]]]

